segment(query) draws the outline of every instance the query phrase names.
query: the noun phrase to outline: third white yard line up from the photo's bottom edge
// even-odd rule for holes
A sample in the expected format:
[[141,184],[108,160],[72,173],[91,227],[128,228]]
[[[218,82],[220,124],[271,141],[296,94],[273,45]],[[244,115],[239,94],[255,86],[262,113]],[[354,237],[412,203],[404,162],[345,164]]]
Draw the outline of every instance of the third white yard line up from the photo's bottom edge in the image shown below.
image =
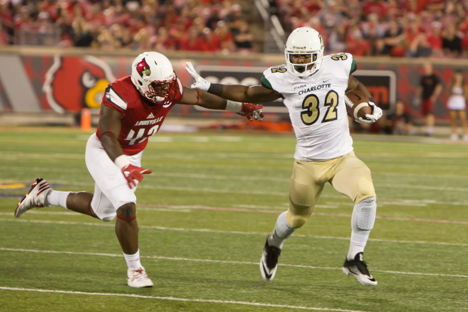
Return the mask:
[[[39,224],[64,224],[64,225],[85,225],[85,226],[114,227],[113,223],[98,223],[98,222],[90,223],[90,222],[27,220],[27,219],[0,219],[0,221],[22,222],[22,223],[39,223]],[[141,229],[161,230],[161,231],[182,231],[182,232],[243,234],[243,235],[268,235],[269,234],[269,233],[266,233],[266,232],[241,232],[241,231],[223,231],[223,230],[210,230],[210,229],[185,229],[185,228],[169,228],[169,227],[148,226],[148,225],[138,225],[138,227],[141,228]],[[315,238],[315,239],[350,240],[349,237],[322,236],[322,235],[294,234],[293,237],[309,237],[309,238]],[[368,241],[385,242],[385,243],[423,244],[423,245],[424,244],[430,244],[430,245],[445,245],[445,246],[464,246],[464,247],[468,246],[468,244],[463,244],[463,243],[409,241],[409,240],[393,240],[393,239],[373,239],[373,238],[369,238]]]

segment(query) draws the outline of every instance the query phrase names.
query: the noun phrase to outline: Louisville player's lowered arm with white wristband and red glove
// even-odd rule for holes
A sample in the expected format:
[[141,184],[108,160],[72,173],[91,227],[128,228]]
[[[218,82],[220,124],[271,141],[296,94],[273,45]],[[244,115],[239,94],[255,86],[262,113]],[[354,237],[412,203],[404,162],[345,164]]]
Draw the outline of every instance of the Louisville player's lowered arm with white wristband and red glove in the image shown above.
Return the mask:
[[99,136],[101,144],[109,158],[115,162],[117,167],[122,171],[123,176],[127,180],[129,188],[137,186],[135,180],[141,182],[144,174],[150,174],[152,171],[134,166],[130,163],[127,156],[123,154],[122,147],[117,140],[120,133],[122,115],[115,109],[106,105],[101,105],[99,116]]

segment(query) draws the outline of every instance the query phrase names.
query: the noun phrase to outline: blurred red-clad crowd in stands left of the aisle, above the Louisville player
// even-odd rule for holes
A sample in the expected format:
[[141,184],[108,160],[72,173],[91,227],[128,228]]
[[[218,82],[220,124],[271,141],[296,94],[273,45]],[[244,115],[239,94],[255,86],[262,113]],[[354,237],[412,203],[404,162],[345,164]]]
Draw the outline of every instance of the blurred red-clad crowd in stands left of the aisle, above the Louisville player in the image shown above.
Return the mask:
[[231,0],[0,0],[0,44],[253,51]]

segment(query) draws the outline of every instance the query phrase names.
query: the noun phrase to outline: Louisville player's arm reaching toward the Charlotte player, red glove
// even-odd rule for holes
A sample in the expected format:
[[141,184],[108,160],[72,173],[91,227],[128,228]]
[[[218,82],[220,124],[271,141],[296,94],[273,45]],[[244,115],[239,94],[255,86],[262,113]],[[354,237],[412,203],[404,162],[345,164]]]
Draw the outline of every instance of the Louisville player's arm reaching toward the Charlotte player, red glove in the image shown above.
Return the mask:
[[263,120],[261,109],[263,105],[241,103],[219,98],[208,92],[184,87],[184,95],[180,104],[198,105],[208,109],[227,110],[246,117],[249,121]]

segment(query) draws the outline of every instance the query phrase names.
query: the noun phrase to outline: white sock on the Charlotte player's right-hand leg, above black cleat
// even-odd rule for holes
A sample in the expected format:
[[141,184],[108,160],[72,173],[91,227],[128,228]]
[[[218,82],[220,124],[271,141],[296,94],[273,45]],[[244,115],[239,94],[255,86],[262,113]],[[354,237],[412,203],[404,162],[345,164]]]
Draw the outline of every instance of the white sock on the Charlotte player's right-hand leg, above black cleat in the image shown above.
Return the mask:
[[[373,200],[372,200],[373,199]],[[360,230],[357,226],[357,217],[361,207],[377,207],[375,197],[369,197],[364,200],[361,200],[354,205],[351,215],[351,240],[350,240],[350,249],[348,255],[346,256],[348,260],[353,260],[357,253],[364,253],[364,248],[366,247],[367,240],[369,238],[370,230]],[[374,216],[375,219],[375,216]],[[373,226],[373,222],[372,226]],[[370,227],[371,228],[371,227]]]

